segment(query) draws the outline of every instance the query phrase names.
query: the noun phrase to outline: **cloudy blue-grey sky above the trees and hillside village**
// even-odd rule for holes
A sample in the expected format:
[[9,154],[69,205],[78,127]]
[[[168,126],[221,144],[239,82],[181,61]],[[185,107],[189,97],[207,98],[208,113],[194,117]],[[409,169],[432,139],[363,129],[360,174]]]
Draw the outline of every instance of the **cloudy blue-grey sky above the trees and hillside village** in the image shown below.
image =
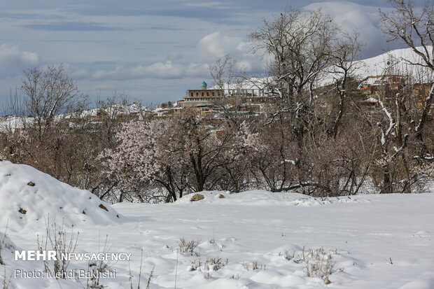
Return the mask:
[[288,7],[321,8],[365,43],[362,58],[399,48],[379,29],[386,0],[1,0],[0,111],[22,71],[62,64],[94,101],[114,93],[150,105],[181,99],[226,54],[263,70],[247,34]]

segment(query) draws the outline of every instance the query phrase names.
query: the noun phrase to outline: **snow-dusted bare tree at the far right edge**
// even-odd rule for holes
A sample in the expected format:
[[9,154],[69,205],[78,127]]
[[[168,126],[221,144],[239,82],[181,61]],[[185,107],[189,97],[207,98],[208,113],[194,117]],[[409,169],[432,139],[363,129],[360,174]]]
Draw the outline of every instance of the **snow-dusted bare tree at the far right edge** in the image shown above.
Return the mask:
[[[429,124],[430,109],[434,94],[434,3],[426,2],[423,8],[414,6],[411,0],[389,0],[393,6],[391,13],[381,13],[382,29],[390,38],[410,48],[415,57],[404,57],[405,66],[393,67],[406,77],[405,85],[410,91],[402,90],[393,97],[393,104],[379,101],[381,110],[388,119],[388,125],[380,127],[381,167],[384,181],[381,192],[394,192],[397,184],[402,185],[402,192],[411,192],[412,184],[419,180],[418,174],[412,174],[409,160],[432,161],[430,148]],[[417,78],[417,79],[415,79]],[[415,81],[416,80],[416,81]],[[416,85],[427,87],[419,94],[419,106],[412,104]],[[428,138],[428,139],[426,139]],[[389,143],[390,142],[390,143]],[[412,150],[409,148],[412,144]],[[391,150],[391,147],[393,150]],[[418,148],[419,151],[414,150]],[[388,153],[388,150],[391,150]],[[402,169],[400,169],[402,167]],[[400,173],[402,171],[402,173]],[[395,185],[396,184],[396,185]]]

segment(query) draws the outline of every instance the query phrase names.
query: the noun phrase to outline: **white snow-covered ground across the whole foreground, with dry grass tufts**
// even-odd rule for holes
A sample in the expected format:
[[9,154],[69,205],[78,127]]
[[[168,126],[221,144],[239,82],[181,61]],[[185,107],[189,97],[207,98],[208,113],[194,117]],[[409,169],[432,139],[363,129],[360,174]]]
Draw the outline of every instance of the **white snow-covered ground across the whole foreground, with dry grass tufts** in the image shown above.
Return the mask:
[[[13,186],[10,178],[17,175]],[[35,186],[27,188],[32,180]],[[0,234],[6,264],[0,265],[0,279],[6,270],[8,288],[87,288],[87,279],[14,276],[15,269],[43,271],[44,266],[14,260],[15,249],[36,249],[37,235],[46,233],[42,218],[18,212],[19,199],[29,211],[53,211],[57,202],[89,210],[99,204],[83,203],[86,191],[49,181],[30,167],[0,163],[0,232],[8,223],[8,237]],[[26,199],[38,185],[38,194],[50,196],[42,199],[44,206],[37,198]],[[86,221],[77,211],[62,212],[65,223],[75,221],[74,231],[80,232],[76,252],[132,253],[130,262],[111,262],[116,278],[102,279],[104,288],[130,288],[131,282],[137,288],[141,255],[140,288],[146,288],[153,268],[149,288],[154,289],[434,288],[434,194],[327,199],[262,190],[201,194],[204,199],[197,202],[187,195],[174,204],[106,204],[109,212],[96,208]],[[15,220],[15,211],[33,219]],[[180,252],[180,238],[197,244],[193,252]],[[68,269],[87,265],[74,261]]]

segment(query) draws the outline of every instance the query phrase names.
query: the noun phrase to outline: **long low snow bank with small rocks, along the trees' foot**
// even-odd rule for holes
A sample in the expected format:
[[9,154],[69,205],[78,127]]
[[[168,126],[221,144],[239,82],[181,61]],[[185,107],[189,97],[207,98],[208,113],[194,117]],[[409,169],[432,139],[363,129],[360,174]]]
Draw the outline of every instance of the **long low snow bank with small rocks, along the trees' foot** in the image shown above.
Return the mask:
[[[195,195],[203,195],[204,198],[192,202]],[[246,192],[230,193],[228,191],[203,191],[183,196],[176,204],[218,204],[218,205],[242,205],[242,206],[321,206],[334,203],[358,203],[370,202],[356,197],[327,197],[316,198],[296,192],[269,192],[267,190],[250,190]]]

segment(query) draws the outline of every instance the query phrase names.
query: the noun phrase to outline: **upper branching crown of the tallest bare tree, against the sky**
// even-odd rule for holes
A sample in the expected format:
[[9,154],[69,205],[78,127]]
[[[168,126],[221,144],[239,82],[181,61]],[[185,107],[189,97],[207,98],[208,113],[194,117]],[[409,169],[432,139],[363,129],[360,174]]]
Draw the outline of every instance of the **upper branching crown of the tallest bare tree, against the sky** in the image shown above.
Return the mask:
[[303,90],[309,90],[319,73],[330,63],[330,47],[337,28],[321,10],[302,13],[286,10],[249,35],[253,52],[272,57],[269,72],[273,90],[291,103],[301,101]]

